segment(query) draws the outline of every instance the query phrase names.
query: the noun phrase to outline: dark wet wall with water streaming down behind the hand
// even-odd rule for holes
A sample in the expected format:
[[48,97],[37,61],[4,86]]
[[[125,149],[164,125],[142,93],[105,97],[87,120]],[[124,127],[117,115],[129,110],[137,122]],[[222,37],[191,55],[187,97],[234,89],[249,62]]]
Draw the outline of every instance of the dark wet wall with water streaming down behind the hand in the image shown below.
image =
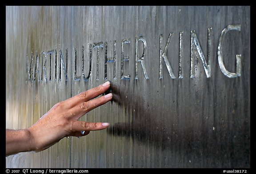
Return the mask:
[[6,7],[6,128],[107,80],[108,129],[6,167],[250,167],[250,7]]

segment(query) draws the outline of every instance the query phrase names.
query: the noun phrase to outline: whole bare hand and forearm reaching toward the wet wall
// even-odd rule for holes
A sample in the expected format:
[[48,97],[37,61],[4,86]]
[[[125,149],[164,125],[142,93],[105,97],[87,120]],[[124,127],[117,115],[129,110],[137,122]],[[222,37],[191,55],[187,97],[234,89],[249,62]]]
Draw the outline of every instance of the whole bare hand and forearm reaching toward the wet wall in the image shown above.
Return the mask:
[[90,131],[108,128],[109,123],[92,123],[78,121],[78,119],[92,109],[112,100],[112,93],[98,97],[109,87],[110,82],[107,81],[96,88],[55,104],[29,128],[6,129],[6,156],[26,151],[43,151],[64,137],[85,136]]

